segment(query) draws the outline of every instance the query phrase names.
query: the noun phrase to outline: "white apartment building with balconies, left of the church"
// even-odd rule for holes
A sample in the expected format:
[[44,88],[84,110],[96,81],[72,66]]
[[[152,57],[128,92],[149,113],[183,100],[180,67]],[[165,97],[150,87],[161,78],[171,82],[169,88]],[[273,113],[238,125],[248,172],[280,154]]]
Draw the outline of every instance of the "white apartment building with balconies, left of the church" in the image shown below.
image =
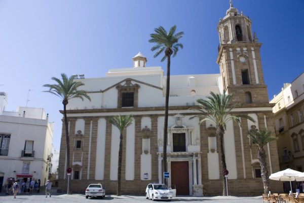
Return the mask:
[[6,111],[8,94],[0,92],[0,186],[7,180],[29,183],[49,178],[54,123],[41,108]]

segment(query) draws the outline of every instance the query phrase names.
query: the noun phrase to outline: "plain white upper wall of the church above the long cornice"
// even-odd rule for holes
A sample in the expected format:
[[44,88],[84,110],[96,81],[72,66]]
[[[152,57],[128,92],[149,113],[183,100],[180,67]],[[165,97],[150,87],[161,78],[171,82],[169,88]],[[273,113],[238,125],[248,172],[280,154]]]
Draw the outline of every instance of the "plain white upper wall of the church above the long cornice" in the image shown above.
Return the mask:
[[[153,72],[145,73],[144,75],[130,76],[132,84],[138,84],[138,107],[163,107],[165,105],[165,84],[166,78],[161,74],[154,74]],[[220,92],[219,88],[219,74],[208,75],[172,75],[170,77],[170,99],[169,106],[184,106],[195,104],[198,98],[205,98],[209,95],[210,91],[215,93]],[[113,76],[104,78],[90,78],[90,79],[77,79],[85,85],[80,89],[88,91],[91,101],[79,98],[70,99],[67,109],[109,109],[117,108],[117,93],[116,85],[124,85],[126,77]],[[192,80],[192,84],[190,84]],[[152,87],[154,85],[159,88]],[[110,89],[107,89],[111,87]],[[105,91],[106,90],[106,91]],[[191,95],[191,91],[195,91],[196,95]],[[96,93],[90,93],[95,91]],[[101,92],[104,91],[104,92]],[[153,95],[153,96],[151,96]]]

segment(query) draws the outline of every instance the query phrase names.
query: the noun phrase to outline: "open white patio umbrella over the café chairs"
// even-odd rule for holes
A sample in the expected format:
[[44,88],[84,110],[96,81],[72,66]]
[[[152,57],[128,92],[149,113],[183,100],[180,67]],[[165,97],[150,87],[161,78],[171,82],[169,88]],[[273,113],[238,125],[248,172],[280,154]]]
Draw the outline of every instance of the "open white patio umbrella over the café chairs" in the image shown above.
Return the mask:
[[291,181],[304,181],[304,176],[302,176],[302,174],[302,172],[294,171],[290,168],[287,168],[284,171],[279,171],[270,175],[269,179],[275,181],[289,181],[292,193]]

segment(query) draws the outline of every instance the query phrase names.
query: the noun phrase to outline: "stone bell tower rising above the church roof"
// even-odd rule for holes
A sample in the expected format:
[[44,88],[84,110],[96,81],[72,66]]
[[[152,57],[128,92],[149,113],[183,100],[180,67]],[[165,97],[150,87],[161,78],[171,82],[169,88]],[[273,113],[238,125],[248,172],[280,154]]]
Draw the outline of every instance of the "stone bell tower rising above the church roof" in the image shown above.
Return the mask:
[[239,13],[230,1],[230,8],[217,25],[219,47],[217,63],[223,88],[234,94],[240,104],[269,104],[264,83],[260,47],[256,34],[252,37],[251,20]]

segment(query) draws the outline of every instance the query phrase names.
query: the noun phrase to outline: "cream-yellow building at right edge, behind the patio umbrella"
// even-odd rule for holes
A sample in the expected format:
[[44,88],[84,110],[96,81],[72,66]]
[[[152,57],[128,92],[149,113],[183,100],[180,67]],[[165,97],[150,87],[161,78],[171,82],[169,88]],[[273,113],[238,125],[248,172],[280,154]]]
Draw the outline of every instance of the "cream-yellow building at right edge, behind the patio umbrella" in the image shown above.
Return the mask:
[[270,101],[274,103],[280,169],[304,170],[304,72]]

